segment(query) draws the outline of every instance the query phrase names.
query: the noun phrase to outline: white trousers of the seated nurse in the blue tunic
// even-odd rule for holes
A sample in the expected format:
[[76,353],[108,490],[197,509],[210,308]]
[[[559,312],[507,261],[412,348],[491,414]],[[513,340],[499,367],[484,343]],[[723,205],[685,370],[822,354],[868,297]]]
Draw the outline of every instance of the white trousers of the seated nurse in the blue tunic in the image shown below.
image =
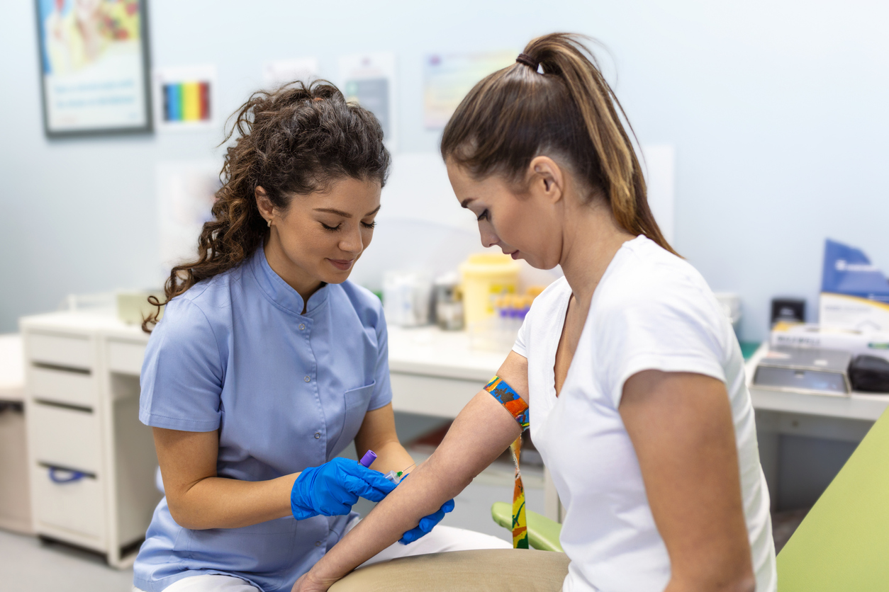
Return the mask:
[[[358,520],[346,526],[346,533],[355,528]],[[345,533],[344,533],[345,534]],[[426,555],[427,553],[444,553],[445,551],[467,551],[470,549],[512,549],[507,541],[490,534],[438,525],[431,533],[413,541],[408,545],[396,542],[380,553],[372,556],[363,565],[376,564],[398,557]],[[143,592],[140,588],[132,588],[132,592]],[[173,582],[164,592],[260,592],[250,583],[230,575],[193,575]]]

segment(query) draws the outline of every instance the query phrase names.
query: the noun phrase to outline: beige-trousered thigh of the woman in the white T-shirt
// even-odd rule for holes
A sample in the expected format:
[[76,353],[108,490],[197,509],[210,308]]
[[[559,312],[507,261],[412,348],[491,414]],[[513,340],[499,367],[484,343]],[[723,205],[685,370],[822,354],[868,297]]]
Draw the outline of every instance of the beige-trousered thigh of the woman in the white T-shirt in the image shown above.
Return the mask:
[[533,549],[431,553],[362,567],[330,592],[558,592],[568,563],[565,553]]

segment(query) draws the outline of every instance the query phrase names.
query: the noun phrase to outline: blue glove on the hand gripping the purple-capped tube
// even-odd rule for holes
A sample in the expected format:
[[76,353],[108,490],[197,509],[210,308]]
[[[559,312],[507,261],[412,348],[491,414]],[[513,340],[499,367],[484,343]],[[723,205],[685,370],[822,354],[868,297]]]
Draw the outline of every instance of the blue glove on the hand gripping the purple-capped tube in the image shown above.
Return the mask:
[[337,457],[302,471],[290,492],[290,509],[297,520],[348,514],[359,497],[380,501],[396,485],[377,470]]

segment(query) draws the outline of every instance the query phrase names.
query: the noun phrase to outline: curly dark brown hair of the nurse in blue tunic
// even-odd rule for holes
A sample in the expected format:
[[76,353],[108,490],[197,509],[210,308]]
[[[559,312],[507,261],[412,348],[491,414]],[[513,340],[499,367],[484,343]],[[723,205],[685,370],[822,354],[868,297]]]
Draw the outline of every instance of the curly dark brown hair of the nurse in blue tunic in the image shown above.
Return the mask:
[[367,109],[346,102],[332,83],[296,82],[254,92],[232,118],[222,143],[235,133],[238,138],[226,151],[213,219],[197,239],[197,258],[172,268],[164,303],[148,298],[157,310],[142,322],[146,333],[173,297],[241,264],[260,246],[268,226],[256,205],[257,187],[286,211],[294,194],[324,191],[343,178],[386,183],[390,157],[380,122]]

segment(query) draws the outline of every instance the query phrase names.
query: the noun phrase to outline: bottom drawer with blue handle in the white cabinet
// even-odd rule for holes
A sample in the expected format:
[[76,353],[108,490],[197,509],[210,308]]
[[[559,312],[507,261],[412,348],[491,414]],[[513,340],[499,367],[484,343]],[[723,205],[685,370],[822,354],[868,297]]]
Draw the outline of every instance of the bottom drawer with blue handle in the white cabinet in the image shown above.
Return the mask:
[[[68,483],[52,480],[52,469],[42,465],[34,467],[34,515],[37,532],[40,525],[63,528],[95,539],[105,533],[105,507],[101,482],[98,478],[83,477]],[[73,473],[56,470],[54,477],[76,477]]]

